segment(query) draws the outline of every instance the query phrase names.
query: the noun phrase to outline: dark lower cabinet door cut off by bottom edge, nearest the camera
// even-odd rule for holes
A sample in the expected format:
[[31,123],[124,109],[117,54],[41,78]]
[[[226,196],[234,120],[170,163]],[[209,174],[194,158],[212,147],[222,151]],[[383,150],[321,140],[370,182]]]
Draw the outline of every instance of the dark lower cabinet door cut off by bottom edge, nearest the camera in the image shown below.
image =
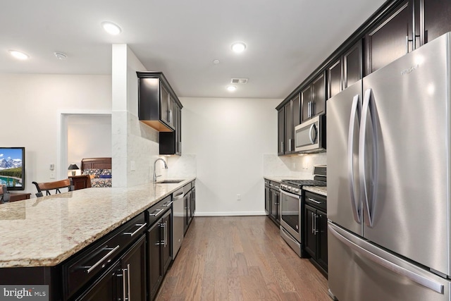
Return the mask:
[[77,301],[119,300],[122,298],[121,290],[123,274],[119,262],[105,274],[99,277],[86,293],[78,297]]

